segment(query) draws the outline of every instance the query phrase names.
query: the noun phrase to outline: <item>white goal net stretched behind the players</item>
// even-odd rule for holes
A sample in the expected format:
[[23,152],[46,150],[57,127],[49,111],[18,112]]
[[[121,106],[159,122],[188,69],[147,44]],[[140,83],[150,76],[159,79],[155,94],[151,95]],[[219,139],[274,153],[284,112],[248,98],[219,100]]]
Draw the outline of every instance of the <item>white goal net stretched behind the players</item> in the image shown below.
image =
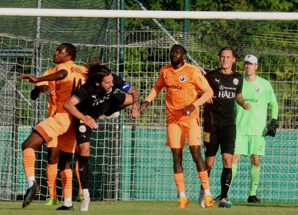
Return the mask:
[[[120,1],[47,0],[1,1],[1,7],[119,10]],[[144,1],[145,2],[145,1]],[[146,1],[147,2],[147,1]],[[160,1],[158,1],[160,2]],[[183,1],[169,1],[167,7],[150,4],[148,10],[183,10]],[[246,11],[251,5],[218,4],[203,7],[190,1],[190,10]],[[214,4],[217,5],[217,2]],[[290,4],[260,8],[257,11],[297,12]],[[161,3],[166,4],[166,3]],[[66,6],[67,5],[67,6]],[[212,4],[210,4],[212,5]],[[171,6],[171,7],[170,7]],[[191,9],[194,8],[194,9]],[[271,8],[271,9],[270,9]],[[273,8],[273,9],[272,9]],[[296,9],[295,9],[296,8]],[[141,10],[136,1],[126,1],[125,9]],[[173,12],[175,13],[175,12]],[[63,15],[61,15],[63,16]],[[141,92],[141,102],[155,84],[159,70],[170,63],[170,47],[184,46],[187,62],[208,72],[220,66],[218,52],[224,46],[237,51],[234,69],[243,74],[243,57],[259,59],[257,75],[269,80],[279,105],[278,130],[267,137],[257,196],[263,201],[297,202],[297,126],[298,126],[298,28],[296,21],[198,20],[145,18],[22,17],[0,15],[0,200],[21,200],[27,189],[22,165],[21,144],[32,128],[47,118],[45,94],[32,101],[35,85],[18,79],[20,74],[41,76],[54,68],[52,56],[60,43],[74,44],[76,62],[85,65],[97,56],[112,72]],[[165,89],[150,103],[145,114],[134,119],[129,108],[117,119],[100,121],[91,134],[91,200],[174,200],[172,154],[165,147]],[[200,107],[203,124],[204,107]],[[268,108],[268,123],[271,109]],[[46,146],[35,150],[35,175],[42,191],[36,199],[45,200]],[[204,157],[204,151],[202,150]],[[198,200],[200,180],[186,144],[183,155],[185,192]],[[72,159],[73,196],[78,193],[75,159]],[[241,158],[230,190],[232,201],[246,201],[250,188],[250,161]],[[210,175],[213,196],[220,194],[222,161],[220,151]],[[62,200],[58,174],[57,194]]]

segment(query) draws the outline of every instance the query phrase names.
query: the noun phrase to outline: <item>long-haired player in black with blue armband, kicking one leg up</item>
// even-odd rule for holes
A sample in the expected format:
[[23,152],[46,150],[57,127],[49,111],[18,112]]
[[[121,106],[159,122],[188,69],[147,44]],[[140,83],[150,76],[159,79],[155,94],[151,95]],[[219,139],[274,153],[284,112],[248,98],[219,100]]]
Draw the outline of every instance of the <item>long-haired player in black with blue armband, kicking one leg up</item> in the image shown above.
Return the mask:
[[[63,108],[74,116],[79,148],[79,175],[83,189],[80,211],[88,211],[90,202],[88,191],[90,135],[93,128],[98,128],[95,120],[103,114],[109,116],[131,104],[129,115],[137,117],[140,102],[140,93],[121,77],[111,74],[109,69],[100,65],[96,57],[93,61],[89,60],[85,67],[88,69],[85,74],[86,83],[63,105]],[[116,89],[125,93],[113,94]]]

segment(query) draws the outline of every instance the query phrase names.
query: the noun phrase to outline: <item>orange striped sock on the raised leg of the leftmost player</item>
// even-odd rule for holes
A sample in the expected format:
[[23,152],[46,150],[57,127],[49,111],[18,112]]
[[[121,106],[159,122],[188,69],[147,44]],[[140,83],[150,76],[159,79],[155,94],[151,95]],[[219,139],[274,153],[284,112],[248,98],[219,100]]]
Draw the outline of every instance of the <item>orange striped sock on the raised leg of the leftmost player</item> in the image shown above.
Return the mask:
[[32,177],[34,180],[35,177],[35,153],[34,149],[25,149],[23,152],[23,166],[24,166],[24,171],[27,179],[29,177]]

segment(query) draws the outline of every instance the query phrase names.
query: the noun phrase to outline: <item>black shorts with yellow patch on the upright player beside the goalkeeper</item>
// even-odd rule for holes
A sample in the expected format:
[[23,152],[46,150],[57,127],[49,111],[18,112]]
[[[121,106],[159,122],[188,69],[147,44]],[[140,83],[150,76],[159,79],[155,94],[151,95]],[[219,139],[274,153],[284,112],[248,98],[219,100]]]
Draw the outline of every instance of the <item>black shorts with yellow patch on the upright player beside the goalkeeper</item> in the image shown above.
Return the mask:
[[203,143],[205,156],[213,157],[221,146],[221,154],[234,155],[236,144],[236,125],[217,126],[204,122]]

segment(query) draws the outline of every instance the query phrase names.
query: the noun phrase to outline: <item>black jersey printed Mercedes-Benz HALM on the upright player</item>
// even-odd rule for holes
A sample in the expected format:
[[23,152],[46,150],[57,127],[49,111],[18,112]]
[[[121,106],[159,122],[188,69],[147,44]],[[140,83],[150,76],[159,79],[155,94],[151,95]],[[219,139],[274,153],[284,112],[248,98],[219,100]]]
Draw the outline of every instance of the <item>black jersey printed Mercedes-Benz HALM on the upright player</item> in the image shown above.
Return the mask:
[[224,126],[235,124],[234,102],[236,94],[242,92],[243,76],[232,71],[224,74],[220,69],[204,76],[213,90],[213,104],[205,103],[204,122]]

